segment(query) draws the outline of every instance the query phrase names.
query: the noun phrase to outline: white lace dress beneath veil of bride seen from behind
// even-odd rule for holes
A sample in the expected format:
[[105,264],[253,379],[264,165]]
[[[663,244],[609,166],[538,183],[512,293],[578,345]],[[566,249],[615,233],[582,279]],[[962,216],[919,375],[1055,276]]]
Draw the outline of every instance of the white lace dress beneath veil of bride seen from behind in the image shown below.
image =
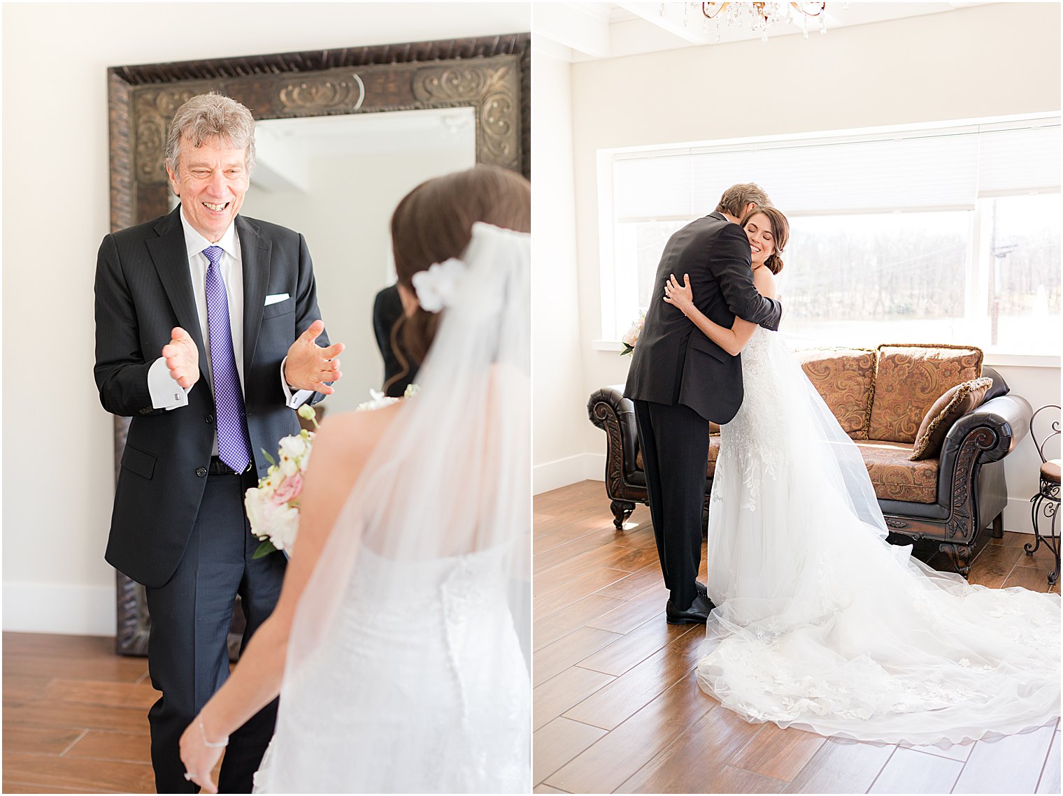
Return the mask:
[[512,728],[528,725],[530,691],[497,602],[500,553],[392,561],[364,548],[328,639],[286,688],[256,792],[526,791]]

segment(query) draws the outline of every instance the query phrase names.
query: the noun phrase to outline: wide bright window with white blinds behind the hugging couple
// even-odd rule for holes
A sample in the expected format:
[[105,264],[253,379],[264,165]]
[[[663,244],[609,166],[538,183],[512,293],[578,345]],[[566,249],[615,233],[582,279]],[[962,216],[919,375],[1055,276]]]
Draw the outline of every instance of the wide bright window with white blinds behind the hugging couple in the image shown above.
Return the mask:
[[[1060,117],[600,155],[603,336],[653,300],[669,236],[755,182],[790,218],[787,332],[1060,353]],[[1053,339],[1054,338],[1054,339]]]

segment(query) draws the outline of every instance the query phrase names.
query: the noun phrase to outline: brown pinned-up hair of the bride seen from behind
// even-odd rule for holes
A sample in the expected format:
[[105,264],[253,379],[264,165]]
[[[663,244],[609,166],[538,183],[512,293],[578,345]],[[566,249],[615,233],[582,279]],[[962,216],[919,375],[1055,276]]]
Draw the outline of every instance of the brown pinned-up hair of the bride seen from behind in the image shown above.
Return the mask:
[[[476,166],[414,188],[391,217],[391,245],[399,284],[416,295],[414,274],[435,262],[460,257],[472,239],[472,225],[476,221],[530,232],[530,183],[508,169]],[[420,362],[435,339],[441,315],[420,306],[412,316],[404,314],[392,332],[392,341],[401,334],[405,352]],[[392,348],[399,351],[398,346]],[[409,372],[409,363],[402,365],[404,372],[395,378]]]

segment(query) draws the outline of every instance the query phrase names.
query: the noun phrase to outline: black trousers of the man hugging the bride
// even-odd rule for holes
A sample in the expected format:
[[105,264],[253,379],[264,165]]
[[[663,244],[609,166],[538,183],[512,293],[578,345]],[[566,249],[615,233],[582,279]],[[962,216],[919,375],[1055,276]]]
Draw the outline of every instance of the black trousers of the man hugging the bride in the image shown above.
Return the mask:
[[634,403],[664,586],[675,608],[686,610],[694,602],[702,563],[709,423],[681,404]]

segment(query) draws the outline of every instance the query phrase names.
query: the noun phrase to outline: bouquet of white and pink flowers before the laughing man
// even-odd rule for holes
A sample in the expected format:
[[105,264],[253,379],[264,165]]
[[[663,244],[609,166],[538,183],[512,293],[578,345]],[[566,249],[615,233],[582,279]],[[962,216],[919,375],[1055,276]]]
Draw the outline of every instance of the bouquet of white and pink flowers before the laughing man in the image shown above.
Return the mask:
[[[416,384],[409,385],[403,397],[416,395],[418,389]],[[355,411],[381,409],[401,400],[388,397],[376,390],[370,390],[369,394],[372,400],[359,404]],[[317,412],[313,406],[303,404],[298,413],[304,420],[311,421],[315,429],[318,427]],[[304,428],[298,435],[283,437],[276,459],[263,451],[270,464],[269,470],[265,477],[258,479],[258,486],[252,487],[243,495],[251,532],[261,542],[253,558],[261,558],[276,551],[290,551],[296,543],[296,534],[299,531],[299,498],[303,494],[303,473],[310,461],[314,435],[315,431]]]

